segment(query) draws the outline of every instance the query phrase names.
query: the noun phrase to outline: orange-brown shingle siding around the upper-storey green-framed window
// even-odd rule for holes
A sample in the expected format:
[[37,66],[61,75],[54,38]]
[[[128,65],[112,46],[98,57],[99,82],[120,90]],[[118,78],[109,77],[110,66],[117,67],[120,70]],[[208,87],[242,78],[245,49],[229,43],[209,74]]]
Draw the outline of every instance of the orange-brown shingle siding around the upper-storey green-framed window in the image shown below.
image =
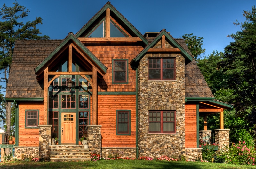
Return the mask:
[[[143,49],[139,43],[116,43],[112,45],[85,46],[106,66],[107,73],[98,80],[98,92],[135,92],[136,71],[131,68],[130,62]],[[123,44],[123,45],[122,45]],[[112,84],[112,59],[128,59],[128,84]]]

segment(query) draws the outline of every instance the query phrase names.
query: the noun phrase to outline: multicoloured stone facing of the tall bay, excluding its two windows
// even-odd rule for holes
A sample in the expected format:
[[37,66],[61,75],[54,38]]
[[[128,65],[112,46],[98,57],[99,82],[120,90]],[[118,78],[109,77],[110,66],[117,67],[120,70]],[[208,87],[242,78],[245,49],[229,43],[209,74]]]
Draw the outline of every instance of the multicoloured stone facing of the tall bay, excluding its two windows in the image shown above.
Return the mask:
[[[166,42],[166,48],[173,48]],[[161,40],[154,48],[161,48]],[[176,58],[176,80],[148,80],[148,58]],[[175,110],[175,134],[149,134],[149,110]],[[139,157],[180,157],[185,153],[185,58],[178,53],[147,53],[138,66]]]

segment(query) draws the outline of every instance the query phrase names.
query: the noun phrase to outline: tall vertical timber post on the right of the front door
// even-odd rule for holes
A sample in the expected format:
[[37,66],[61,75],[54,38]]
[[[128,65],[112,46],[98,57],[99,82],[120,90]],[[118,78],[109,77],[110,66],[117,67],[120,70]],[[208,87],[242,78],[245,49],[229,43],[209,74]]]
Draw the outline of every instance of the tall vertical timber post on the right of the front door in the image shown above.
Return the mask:
[[92,125],[97,125],[97,69],[92,69]]

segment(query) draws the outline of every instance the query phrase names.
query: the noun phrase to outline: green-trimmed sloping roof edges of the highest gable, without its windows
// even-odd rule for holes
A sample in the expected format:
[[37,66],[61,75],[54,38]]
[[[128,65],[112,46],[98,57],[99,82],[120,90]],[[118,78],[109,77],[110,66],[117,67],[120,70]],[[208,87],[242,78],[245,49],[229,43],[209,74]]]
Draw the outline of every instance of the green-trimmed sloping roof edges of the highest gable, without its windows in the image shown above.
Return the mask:
[[[126,19],[124,16],[116,10],[115,7],[113,7],[110,2],[107,2],[101,9],[98,11],[77,33],[76,37],[81,38],[87,30],[90,29],[92,25],[95,24],[95,22],[100,19],[102,15],[105,15],[107,13],[107,9],[110,10],[110,14],[113,17],[118,18],[118,22],[122,23],[124,25],[124,29],[127,29],[127,31],[130,32],[132,37],[139,37],[145,45],[148,44],[148,40]],[[105,16],[106,17],[106,16]]]

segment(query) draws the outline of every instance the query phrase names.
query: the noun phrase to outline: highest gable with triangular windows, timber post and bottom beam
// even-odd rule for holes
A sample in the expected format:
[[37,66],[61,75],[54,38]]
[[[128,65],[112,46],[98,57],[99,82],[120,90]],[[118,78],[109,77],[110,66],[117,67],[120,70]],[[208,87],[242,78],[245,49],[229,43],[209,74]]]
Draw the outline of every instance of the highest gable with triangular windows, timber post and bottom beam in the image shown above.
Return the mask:
[[110,2],[76,33],[76,37],[81,42],[142,41],[148,44],[148,40]]

